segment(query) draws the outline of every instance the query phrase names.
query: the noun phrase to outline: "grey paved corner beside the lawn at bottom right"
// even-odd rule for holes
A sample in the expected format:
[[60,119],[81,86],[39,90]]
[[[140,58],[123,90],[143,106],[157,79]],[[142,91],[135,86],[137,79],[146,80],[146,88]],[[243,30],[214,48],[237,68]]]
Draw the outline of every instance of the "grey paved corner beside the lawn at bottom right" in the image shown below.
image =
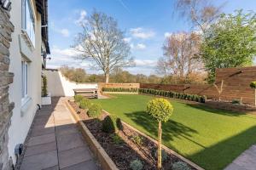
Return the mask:
[[255,170],[256,169],[256,144],[245,150],[224,170]]

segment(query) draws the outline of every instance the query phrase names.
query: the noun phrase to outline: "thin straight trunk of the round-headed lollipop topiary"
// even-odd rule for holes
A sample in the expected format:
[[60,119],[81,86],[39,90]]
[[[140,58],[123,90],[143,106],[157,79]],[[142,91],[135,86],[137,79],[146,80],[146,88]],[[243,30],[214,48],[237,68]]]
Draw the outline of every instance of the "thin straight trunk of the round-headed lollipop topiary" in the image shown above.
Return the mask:
[[162,124],[158,122],[157,169],[162,169]]

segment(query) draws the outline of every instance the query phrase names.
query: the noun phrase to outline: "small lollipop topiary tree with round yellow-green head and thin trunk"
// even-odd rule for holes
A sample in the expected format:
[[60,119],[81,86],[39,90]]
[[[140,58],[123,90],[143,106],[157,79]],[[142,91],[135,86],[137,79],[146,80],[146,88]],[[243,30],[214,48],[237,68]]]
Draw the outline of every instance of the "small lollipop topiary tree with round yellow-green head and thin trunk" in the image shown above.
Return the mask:
[[157,154],[157,168],[161,169],[161,140],[162,140],[162,128],[161,122],[167,122],[171,116],[173,107],[167,99],[152,99],[148,102],[147,113],[153,116],[158,121],[158,154]]

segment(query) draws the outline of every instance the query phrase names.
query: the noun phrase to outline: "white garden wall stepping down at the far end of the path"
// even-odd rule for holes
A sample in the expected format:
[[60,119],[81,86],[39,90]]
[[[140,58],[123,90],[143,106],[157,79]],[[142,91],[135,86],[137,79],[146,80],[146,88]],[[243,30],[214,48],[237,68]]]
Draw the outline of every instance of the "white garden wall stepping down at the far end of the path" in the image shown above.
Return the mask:
[[49,94],[54,96],[73,96],[73,89],[76,88],[98,88],[97,83],[76,83],[68,81],[62,76],[61,71],[43,71],[47,77],[47,89]]

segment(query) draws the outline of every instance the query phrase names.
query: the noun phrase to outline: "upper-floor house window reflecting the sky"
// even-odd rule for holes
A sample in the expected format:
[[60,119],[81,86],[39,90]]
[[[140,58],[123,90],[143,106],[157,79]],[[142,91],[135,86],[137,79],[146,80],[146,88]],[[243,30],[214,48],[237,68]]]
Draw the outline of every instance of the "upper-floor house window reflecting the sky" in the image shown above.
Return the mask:
[[22,0],[22,30],[35,47],[35,18],[30,0]]

